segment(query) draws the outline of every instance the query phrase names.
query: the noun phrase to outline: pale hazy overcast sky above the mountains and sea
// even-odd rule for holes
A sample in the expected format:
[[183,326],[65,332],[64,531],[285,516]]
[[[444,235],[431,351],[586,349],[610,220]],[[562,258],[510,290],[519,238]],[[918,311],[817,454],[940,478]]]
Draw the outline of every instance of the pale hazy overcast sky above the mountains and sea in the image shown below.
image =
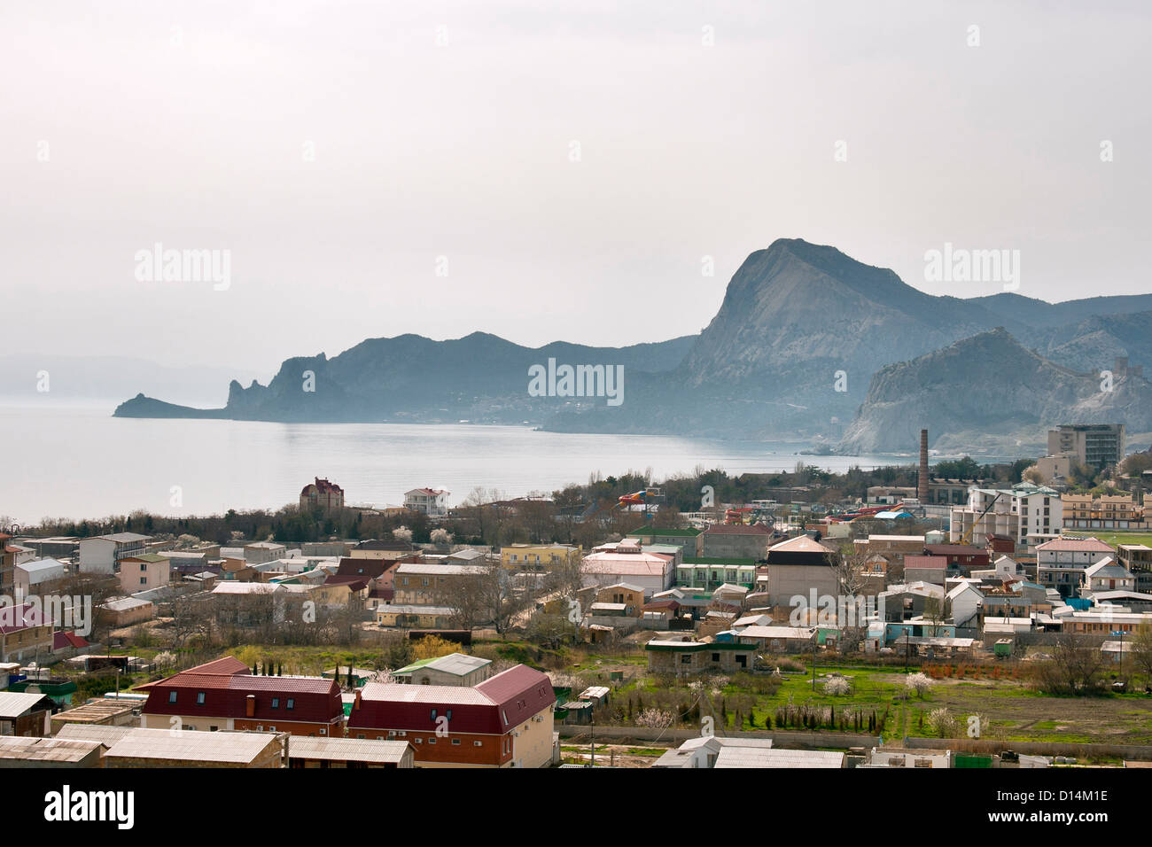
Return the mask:
[[[1020,250],[1029,296],[1152,290],[1150,8],[2,3],[0,354],[658,341],[778,237],[934,294],[1001,289],[925,282],[945,242]],[[138,280],[157,242],[230,287]]]

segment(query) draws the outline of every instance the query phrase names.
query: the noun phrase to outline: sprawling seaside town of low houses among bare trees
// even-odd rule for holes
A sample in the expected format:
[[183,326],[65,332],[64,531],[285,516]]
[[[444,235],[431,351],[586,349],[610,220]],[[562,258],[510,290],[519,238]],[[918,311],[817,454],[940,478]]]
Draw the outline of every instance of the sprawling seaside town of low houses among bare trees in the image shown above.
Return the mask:
[[[654,744],[645,766],[975,766],[948,744],[916,754],[871,701],[866,719],[905,747],[856,738],[817,756],[788,733],[849,733],[848,716],[865,720],[855,686],[869,696],[867,674],[894,661],[930,679],[917,685],[961,664],[1014,668],[1003,685],[1020,688],[1056,686],[1052,656],[1081,650],[1101,696],[1143,685],[1143,496],[1062,487],[982,478],[967,499],[917,505],[901,486],[819,502],[789,485],[763,492],[787,502],[703,512],[630,485],[607,508],[539,494],[453,507],[444,489],[415,489],[389,513],[349,506],[317,476],[300,514],[351,515],[343,525],[371,536],[304,540],[278,525],[204,540],[156,520],[150,535],[9,534],[9,578],[30,599],[0,605],[0,712],[5,688],[21,695],[8,706],[25,740],[0,739],[0,762],[537,769],[591,764],[573,749],[612,727],[629,749]],[[96,600],[94,632],[41,603],[70,596]],[[108,667],[111,685],[74,702]],[[796,712],[789,674],[849,711]],[[730,735],[662,732],[702,721]],[[157,734],[173,729],[189,743]],[[635,755],[608,746],[609,766]],[[1011,766],[1001,748],[991,766]]]

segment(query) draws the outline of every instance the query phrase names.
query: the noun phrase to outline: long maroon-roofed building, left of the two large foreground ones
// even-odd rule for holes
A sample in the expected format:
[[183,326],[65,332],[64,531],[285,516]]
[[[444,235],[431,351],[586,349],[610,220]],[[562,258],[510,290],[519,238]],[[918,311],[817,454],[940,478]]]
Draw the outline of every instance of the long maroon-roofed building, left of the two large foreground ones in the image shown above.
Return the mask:
[[226,657],[136,690],[147,691],[145,728],[343,736],[344,710],[334,680],[253,676],[244,663]]

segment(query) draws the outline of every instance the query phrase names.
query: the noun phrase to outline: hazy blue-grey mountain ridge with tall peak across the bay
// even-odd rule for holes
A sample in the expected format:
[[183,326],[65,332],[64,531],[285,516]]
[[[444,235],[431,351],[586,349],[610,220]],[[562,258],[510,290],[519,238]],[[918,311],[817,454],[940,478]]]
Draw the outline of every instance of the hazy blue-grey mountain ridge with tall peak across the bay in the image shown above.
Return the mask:
[[[1131,313],[1136,309],[1149,315]],[[744,260],[719,311],[696,336],[626,348],[554,342],[535,349],[486,333],[449,341],[419,335],[369,339],[331,360],[324,354],[289,358],[267,386],[253,381],[245,388],[233,381],[222,409],[195,410],[195,416],[526,421],[573,432],[827,441],[838,440],[840,429],[857,413],[871,415],[869,421],[876,417],[876,403],[888,401],[879,399],[887,395],[882,386],[873,385],[873,377],[894,363],[909,363],[1002,327],[998,332],[1013,345],[1029,356],[1045,358],[1052,368],[1098,372],[1117,355],[1129,356],[1132,364],[1152,364],[1152,343],[1140,331],[1150,316],[1152,295],[1058,304],[1011,293],[971,300],[930,295],[893,271],[865,265],[835,248],[780,239]],[[999,334],[984,339],[969,353],[992,355],[993,342],[1003,340]],[[1036,353],[1026,350],[1028,346]],[[1013,355],[1022,354],[1013,349]],[[624,402],[609,407],[589,398],[530,396],[528,368],[548,357],[569,364],[624,365]],[[1037,369],[1049,375],[1047,366]],[[313,391],[303,388],[308,373]],[[992,394],[1001,383],[1001,394],[1016,390],[995,369],[985,378],[991,380]],[[931,394],[931,386],[920,390],[907,380],[901,384],[907,391]],[[1076,392],[1063,396],[1069,402],[1085,400]],[[1134,400],[1134,414],[1142,398]],[[1005,396],[998,402],[1002,404]],[[968,431],[972,416],[961,415],[958,407],[948,408],[954,423],[935,416],[933,437]],[[909,409],[924,411],[915,404]],[[180,407],[141,396],[122,403],[115,414],[191,416]],[[1020,425],[1026,425],[1023,418]],[[918,432],[919,424],[914,429]],[[849,431],[856,434],[848,438],[846,433],[847,449],[880,443],[867,434],[866,424],[852,424]],[[916,438],[900,439],[901,449],[917,444]]]

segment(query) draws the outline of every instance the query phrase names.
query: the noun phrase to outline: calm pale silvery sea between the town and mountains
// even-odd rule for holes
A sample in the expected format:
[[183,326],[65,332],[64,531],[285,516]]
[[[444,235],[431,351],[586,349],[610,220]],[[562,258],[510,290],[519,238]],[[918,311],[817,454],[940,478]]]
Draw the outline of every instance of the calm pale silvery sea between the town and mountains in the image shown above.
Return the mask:
[[[111,407],[0,407],[0,515],[100,517],[144,508],[180,514],[275,508],[313,477],[349,504],[399,505],[442,487],[449,502],[476,486],[508,497],[551,492],[628,470],[655,479],[697,466],[729,474],[909,463],[910,455],[803,456],[798,444],[536,432],[520,426],[278,424],[114,418]],[[180,506],[174,506],[174,502]]]

